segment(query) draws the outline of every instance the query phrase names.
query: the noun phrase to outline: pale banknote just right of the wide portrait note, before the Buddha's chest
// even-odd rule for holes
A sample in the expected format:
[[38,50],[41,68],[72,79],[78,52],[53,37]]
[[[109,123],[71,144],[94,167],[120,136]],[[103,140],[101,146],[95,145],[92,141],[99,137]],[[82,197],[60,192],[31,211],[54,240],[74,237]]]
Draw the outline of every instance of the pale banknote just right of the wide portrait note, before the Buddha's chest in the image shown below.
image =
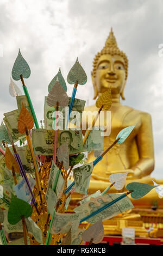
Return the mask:
[[[87,132],[87,131],[86,131]],[[104,150],[104,137],[101,136],[101,127],[92,127],[89,136],[83,146],[83,151],[91,152],[92,150]]]

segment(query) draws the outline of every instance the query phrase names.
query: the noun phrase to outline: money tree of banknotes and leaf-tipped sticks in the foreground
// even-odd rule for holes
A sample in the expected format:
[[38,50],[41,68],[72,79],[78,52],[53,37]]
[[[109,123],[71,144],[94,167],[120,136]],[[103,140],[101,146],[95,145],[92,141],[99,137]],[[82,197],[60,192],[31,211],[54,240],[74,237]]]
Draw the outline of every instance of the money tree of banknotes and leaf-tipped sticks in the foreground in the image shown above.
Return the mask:
[[[162,194],[157,184],[139,182],[131,182],[126,192],[118,193],[126,184],[127,172],[110,175],[105,191],[97,187],[89,194],[93,167],[116,143],[122,144],[136,124],[121,130],[104,150],[104,127],[97,120],[111,107],[109,88],[97,99],[98,111],[87,130],[83,129],[85,100],[77,99],[76,93],[78,86],[85,87],[87,76],[78,58],[67,75],[68,84],[73,85],[71,97],[60,68],[47,85],[41,128],[24,82],[30,68],[20,50],[11,75],[15,81],[21,80],[24,95],[10,79],[9,93],[16,98],[17,109],[4,113],[0,126],[2,245],[99,243],[104,237],[103,221],[134,208],[128,194],[139,199],[153,188]],[[95,159],[87,162],[86,154],[91,151]],[[112,186],[117,193],[111,193]],[[79,193],[81,200],[72,209],[73,193]]]

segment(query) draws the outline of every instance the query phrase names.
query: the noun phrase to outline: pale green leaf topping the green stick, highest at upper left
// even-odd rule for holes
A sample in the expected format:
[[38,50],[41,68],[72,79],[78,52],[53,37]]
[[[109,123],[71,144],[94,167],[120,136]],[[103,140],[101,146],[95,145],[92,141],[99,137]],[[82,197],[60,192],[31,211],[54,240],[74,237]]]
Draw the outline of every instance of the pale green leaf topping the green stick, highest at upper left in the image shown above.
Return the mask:
[[12,78],[15,81],[18,81],[21,79],[21,75],[23,78],[28,78],[30,76],[30,68],[26,60],[23,58],[20,49],[18,49],[18,56],[12,68]]

